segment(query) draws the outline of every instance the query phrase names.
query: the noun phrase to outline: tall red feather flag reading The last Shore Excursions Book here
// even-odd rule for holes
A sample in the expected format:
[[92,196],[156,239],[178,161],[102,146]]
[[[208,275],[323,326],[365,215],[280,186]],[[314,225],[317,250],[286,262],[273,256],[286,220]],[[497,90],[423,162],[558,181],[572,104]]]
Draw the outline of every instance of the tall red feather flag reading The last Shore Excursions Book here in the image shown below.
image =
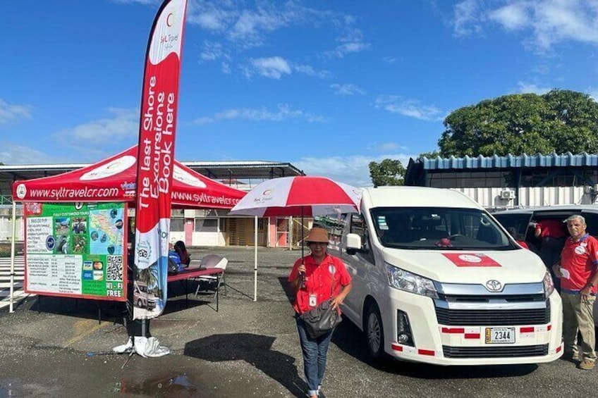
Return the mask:
[[187,0],[165,0],[147,44],[138,144],[133,319],[166,306],[174,139]]

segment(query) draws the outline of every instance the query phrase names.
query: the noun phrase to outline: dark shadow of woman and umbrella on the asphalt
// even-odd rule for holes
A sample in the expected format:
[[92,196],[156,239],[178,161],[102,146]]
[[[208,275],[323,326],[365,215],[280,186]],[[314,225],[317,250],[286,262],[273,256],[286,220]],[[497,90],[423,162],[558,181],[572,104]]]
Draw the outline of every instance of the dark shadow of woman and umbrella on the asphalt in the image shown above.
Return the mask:
[[302,397],[307,385],[299,378],[295,359],[271,349],[274,340],[276,337],[251,333],[212,335],[188,342],[183,353],[210,362],[245,361],[281,383],[293,396]]

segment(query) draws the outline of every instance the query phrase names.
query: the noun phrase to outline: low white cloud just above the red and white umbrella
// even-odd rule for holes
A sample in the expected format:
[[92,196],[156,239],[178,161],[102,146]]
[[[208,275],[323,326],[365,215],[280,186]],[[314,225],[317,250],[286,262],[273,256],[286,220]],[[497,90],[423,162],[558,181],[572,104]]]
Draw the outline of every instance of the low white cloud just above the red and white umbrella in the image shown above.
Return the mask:
[[371,187],[370,162],[381,162],[385,158],[398,159],[407,168],[410,157],[416,155],[386,154],[380,156],[331,156],[328,158],[306,157],[292,161],[293,165],[307,175],[322,175],[355,187]]

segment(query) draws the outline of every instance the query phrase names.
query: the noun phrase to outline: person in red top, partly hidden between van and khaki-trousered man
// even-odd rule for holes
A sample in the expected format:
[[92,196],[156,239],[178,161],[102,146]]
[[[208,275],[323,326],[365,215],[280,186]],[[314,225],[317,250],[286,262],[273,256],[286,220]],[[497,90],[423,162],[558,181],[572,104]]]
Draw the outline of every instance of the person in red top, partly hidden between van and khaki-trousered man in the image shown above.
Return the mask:
[[542,259],[546,268],[550,270],[552,280],[554,280],[554,287],[558,292],[561,292],[559,279],[555,278],[556,275],[552,272],[552,266],[559,261],[559,257],[561,256],[561,250],[567,236],[566,228],[564,228],[561,220],[547,218],[539,220],[536,223],[534,235],[542,241],[539,247],[540,259]]

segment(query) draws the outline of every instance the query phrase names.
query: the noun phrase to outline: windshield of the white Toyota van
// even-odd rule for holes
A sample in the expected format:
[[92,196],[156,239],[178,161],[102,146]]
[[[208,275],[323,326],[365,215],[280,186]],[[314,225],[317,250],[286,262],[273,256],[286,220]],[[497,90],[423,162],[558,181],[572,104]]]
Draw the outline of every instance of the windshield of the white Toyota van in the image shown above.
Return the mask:
[[385,247],[439,250],[515,249],[485,211],[440,207],[372,209],[378,240]]

